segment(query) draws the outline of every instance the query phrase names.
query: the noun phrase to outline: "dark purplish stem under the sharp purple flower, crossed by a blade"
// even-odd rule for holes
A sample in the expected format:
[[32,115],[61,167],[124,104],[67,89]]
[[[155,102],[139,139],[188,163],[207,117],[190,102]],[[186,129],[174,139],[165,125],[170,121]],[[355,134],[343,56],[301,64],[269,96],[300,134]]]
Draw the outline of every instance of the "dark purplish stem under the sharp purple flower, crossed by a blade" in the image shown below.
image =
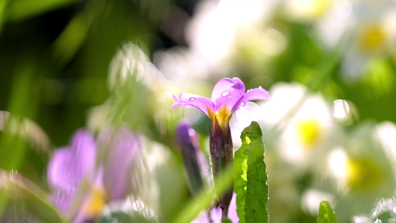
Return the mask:
[[[209,149],[211,169],[213,181],[219,179],[222,173],[225,173],[227,167],[233,164],[234,153],[232,147],[232,138],[230,127],[228,133],[224,134],[221,130],[217,118],[215,119],[215,127],[209,127]],[[228,208],[232,199],[234,185],[231,185],[225,192],[220,193],[215,187],[217,198],[219,199],[220,208],[222,210],[221,219],[227,219]]]

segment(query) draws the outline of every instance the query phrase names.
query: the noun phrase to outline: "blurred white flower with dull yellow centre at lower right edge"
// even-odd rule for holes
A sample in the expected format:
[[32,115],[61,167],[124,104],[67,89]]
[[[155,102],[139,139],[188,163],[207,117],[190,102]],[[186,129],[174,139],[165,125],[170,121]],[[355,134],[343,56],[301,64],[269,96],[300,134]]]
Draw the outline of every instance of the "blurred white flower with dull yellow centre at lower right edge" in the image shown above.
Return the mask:
[[387,142],[394,140],[396,128],[393,125],[389,131],[388,124],[358,125],[348,133],[348,141],[343,146],[336,146],[329,153],[329,178],[335,179],[337,190],[334,192],[339,194],[340,206],[335,211],[348,207],[337,212],[341,214],[337,214],[340,222],[348,221],[351,215],[371,212],[378,197],[394,196],[395,156],[383,145],[390,145]]

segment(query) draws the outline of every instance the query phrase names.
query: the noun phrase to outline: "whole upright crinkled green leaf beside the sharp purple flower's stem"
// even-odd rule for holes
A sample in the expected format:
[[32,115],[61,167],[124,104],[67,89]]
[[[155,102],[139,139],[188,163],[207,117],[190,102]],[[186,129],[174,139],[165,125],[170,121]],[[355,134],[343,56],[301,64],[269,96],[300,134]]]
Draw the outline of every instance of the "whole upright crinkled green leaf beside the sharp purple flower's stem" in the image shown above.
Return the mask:
[[242,131],[242,146],[235,152],[234,190],[240,222],[268,223],[268,174],[262,136],[259,124],[252,121]]

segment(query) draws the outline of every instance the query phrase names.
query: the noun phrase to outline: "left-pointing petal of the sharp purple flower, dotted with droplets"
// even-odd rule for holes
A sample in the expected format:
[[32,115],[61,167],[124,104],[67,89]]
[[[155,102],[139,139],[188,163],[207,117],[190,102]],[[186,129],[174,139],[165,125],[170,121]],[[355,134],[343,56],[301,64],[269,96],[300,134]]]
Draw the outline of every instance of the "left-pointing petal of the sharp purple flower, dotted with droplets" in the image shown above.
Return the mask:
[[204,96],[190,93],[181,93],[179,94],[179,99],[177,99],[174,95],[173,98],[175,98],[176,103],[172,105],[172,108],[176,108],[180,105],[183,105],[184,107],[193,106],[204,112],[206,115],[208,115],[208,107],[209,109],[213,110],[213,104],[211,100]]

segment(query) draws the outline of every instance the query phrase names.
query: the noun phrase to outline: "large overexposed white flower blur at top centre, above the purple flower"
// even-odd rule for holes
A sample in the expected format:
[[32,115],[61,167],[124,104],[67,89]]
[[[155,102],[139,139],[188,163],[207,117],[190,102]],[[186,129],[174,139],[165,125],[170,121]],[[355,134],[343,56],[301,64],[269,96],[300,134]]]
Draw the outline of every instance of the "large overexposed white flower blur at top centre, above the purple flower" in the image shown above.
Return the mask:
[[[238,47],[253,45],[263,61],[286,47],[282,33],[265,24],[279,1],[207,0],[188,22],[186,40],[190,52],[206,68],[204,73],[225,73]],[[267,29],[268,28],[268,29]],[[249,47],[248,47],[249,48]],[[229,68],[228,68],[229,69]]]

